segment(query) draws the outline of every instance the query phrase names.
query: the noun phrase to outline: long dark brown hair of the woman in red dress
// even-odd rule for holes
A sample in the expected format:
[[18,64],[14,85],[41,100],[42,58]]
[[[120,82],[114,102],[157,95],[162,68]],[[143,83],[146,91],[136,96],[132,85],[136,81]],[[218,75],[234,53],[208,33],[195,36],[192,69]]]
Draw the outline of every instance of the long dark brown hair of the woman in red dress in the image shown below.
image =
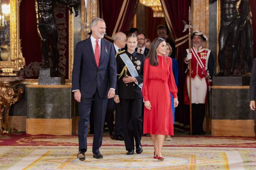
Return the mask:
[[157,58],[156,49],[159,46],[159,44],[162,43],[163,41],[165,41],[165,39],[163,39],[161,37],[157,37],[151,43],[150,51],[147,55],[147,58],[150,59],[150,65],[152,65],[152,66],[158,66],[158,58]]

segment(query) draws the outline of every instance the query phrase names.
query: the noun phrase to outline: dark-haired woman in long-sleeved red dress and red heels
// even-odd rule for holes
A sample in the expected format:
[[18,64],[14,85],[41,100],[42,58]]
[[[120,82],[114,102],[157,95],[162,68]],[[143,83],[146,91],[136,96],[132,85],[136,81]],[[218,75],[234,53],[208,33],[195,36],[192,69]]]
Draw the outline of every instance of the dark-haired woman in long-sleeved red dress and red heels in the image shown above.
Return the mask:
[[165,57],[166,42],[156,38],[144,62],[142,94],[145,101],[143,133],[150,134],[154,143],[154,158],[163,161],[161,151],[165,135],[174,135],[171,94],[178,106],[172,61]]

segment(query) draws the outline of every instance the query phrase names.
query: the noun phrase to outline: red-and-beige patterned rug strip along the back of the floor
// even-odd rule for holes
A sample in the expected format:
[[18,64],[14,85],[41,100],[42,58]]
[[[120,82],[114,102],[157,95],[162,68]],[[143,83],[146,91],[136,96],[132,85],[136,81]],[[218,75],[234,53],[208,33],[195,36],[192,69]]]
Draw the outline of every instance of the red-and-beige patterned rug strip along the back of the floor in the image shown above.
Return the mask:
[[[88,144],[91,146],[93,135],[88,135]],[[143,146],[153,146],[150,136],[143,136]],[[52,135],[2,135],[0,146],[78,146],[78,136],[52,136]],[[112,140],[104,135],[102,146],[124,146],[123,141]],[[171,141],[165,141],[165,147],[240,147],[256,148],[254,137],[213,137],[213,136],[174,136]]]

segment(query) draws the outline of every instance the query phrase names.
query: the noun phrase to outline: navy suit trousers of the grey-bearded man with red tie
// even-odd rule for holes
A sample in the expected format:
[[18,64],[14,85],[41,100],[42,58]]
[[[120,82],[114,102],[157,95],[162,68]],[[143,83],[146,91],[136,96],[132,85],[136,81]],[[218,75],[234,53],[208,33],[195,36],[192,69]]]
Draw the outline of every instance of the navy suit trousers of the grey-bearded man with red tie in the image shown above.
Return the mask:
[[79,150],[87,150],[87,131],[90,119],[91,103],[94,100],[93,153],[98,153],[102,145],[102,134],[106,115],[107,98],[100,98],[98,89],[91,98],[81,98],[79,103],[78,141]]

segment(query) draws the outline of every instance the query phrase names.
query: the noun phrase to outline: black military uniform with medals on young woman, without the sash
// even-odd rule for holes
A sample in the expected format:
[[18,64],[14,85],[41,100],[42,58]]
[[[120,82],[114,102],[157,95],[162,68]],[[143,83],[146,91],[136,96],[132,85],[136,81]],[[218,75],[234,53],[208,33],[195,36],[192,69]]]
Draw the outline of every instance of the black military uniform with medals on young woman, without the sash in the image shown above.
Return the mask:
[[[124,83],[123,81],[124,77],[131,76],[126,64],[120,57],[120,55],[123,53],[128,55],[139,74],[139,76],[135,77],[137,80],[136,83]],[[121,104],[122,130],[124,134],[125,147],[128,152],[134,149],[134,139],[136,144],[136,152],[137,149],[141,147],[141,110],[143,97],[141,88],[138,85],[143,83],[144,60],[145,56],[142,53],[138,53],[136,51],[131,54],[128,51],[123,50],[117,53],[116,56],[117,88],[115,94],[119,96]]]

